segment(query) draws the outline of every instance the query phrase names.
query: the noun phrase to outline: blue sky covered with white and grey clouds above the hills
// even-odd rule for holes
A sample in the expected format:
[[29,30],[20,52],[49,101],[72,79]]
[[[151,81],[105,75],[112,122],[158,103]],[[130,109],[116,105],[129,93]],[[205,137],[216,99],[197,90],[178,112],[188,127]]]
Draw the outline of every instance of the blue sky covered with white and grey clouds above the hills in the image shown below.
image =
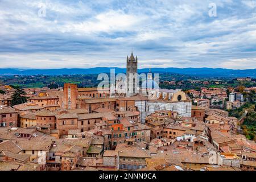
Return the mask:
[[256,0],[0,0],[0,23],[0,68],[256,68]]

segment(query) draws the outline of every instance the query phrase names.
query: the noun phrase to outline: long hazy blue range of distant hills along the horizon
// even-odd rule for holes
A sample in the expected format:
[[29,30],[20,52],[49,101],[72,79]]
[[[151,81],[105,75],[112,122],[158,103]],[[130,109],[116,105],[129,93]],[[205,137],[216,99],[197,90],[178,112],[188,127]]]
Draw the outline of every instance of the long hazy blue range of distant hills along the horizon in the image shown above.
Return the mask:
[[[71,68],[71,69],[15,69],[0,68],[0,75],[86,75],[110,73],[106,67]],[[115,73],[125,73],[125,68],[114,68]],[[138,69],[139,73],[148,72],[148,68]],[[154,73],[177,73],[200,77],[256,77],[256,69],[223,69],[223,68],[151,68]]]

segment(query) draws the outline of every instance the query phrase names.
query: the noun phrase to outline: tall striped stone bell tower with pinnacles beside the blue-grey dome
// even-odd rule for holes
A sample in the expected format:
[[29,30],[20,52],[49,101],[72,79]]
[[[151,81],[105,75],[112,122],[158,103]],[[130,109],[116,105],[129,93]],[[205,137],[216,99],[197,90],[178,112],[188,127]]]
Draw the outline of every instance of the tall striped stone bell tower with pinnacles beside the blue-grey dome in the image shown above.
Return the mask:
[[137,69],[138,69],[138,57],[134,58],[133,52],[131,52],[130,58],[126,59],[126,80],[127,80],[127,93],[126,96],[135,96],[137,94]]

